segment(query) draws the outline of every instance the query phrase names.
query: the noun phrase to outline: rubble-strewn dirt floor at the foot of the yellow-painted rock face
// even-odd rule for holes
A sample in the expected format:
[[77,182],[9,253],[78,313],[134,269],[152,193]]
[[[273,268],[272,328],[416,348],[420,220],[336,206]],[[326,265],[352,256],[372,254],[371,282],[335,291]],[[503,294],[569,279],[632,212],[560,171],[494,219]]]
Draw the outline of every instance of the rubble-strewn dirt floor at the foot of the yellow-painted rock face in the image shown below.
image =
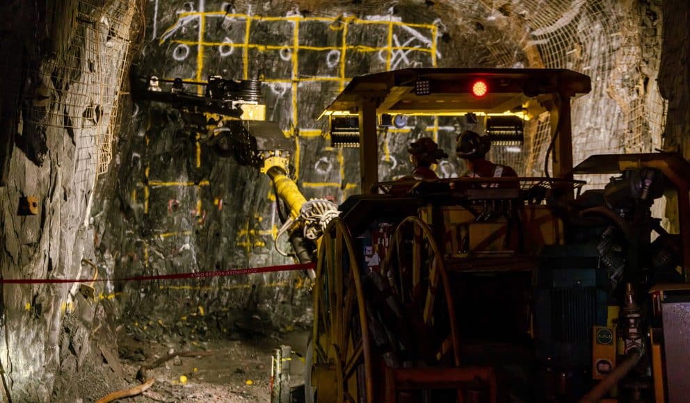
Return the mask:
[[[269,402],[271,356],[280,345],[289,345],[291,386],[304,383],[304,356],[308,331],[292,331],[280,336],[250,340],[216,340],[193,343],[151,343],[132,338],[120,340],[122,372],[131,386],[139,368],[168,354],[177,356],[158,368],[147,370],[154,384],[130,402]],[[186,353],[191,352],[191,353]],[[113,390],[114,391],[114,390]]]

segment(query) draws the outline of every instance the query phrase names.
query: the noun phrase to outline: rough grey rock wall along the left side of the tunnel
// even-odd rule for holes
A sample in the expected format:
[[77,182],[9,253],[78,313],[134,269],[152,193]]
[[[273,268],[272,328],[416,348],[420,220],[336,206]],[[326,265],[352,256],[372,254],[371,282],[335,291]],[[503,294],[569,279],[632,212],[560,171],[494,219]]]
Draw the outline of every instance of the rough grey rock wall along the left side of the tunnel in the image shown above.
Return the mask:
[[[0,37],[3,77],[10,77],[1,84],[1,124],[3,134],[16,133],[0,187],[1,275],[88,278],[93,270],[82,259],[93,259],[99,140],[110,125],[129,39],[110,23],[115,8],[129,4],[39,4],[1,8],[14,17]],[[36,215],[20,213],[29,196]],[[103,306],[72,283],[5,283],[0,292],[2,393],[15,402],[53,400],[56,384],[83,369]]]

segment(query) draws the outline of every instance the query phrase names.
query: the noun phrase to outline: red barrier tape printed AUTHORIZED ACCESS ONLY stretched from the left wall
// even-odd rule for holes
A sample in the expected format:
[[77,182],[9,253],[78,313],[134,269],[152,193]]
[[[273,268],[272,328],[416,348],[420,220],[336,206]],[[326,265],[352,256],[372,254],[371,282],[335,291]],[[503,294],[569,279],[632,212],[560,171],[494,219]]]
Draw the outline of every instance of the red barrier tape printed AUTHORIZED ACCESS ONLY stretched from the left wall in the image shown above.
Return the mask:
[[93,283],[95,281],[151,281],[151,280],[175,280],[175,279],[204,279],[207,277],[236,276],[239,274],[254,274],[268,272],[287,272],[289,270],[314,269],[314,263],[298,263],[294,265],[267,266],[265,268],[247,268],[236,270],[223,270],[218,272],[188,272],[177,274],[160,274],[157,276],[125,277],[122,279],[0,279],[3,284],[52,284],[52,283]]

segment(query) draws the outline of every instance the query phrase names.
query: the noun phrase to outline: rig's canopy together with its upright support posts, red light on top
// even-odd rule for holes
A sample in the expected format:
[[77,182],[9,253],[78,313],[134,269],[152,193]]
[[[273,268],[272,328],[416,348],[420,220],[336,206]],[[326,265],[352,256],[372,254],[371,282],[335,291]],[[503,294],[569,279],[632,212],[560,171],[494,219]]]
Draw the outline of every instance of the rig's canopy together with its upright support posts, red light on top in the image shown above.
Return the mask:
[[[472,83],[479,79],[489,91],[482,98],[472,95]],[[415,90],[419,83],[428,85],[428,94]],[[554,177],[572,179],[570,99],[590,91],[588,76],[566,69],[401,69],[355,77],[323,115],[358,115],[362,192],[375,193],[379,115],[504,113],[532,98],[527,113],[551,113]]]

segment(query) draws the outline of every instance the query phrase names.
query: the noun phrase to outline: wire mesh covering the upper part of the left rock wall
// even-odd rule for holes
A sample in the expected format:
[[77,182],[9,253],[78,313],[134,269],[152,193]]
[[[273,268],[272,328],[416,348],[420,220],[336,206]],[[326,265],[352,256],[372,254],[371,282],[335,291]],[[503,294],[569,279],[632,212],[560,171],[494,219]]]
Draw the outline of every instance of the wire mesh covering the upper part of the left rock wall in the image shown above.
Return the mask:
[[79,2],[65,52],[69,56],[47,58],[38,71],[25,72],[24,131],[45,138],[49,127],[65,129],[77,148],[76,183],[93,181],[111,162],[135,9],[134,0],[99,7]]

